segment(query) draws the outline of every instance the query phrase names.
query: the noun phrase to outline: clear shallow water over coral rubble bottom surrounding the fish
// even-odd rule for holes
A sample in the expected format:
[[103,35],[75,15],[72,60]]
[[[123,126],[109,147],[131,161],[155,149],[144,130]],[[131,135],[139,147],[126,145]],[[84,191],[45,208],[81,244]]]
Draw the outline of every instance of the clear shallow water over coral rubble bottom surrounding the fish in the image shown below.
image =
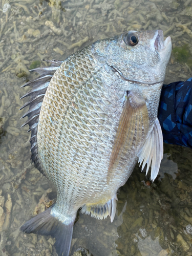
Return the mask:
[[[20,129],[25,110],[18,109],[25,101],[19,98],[28,88],[19,87],[35,77],[28,70],[44,66],[40,59],[63,60],[97,39],[162,29],[175,49],[165,83],[186,80],[192,76],[191,13],[191,0],[0,2],[0,255],[56,255],[52,238],[18,230],[55,198],[52,184],[30,162],[28,127]],[[71,255],[81,247],[94,256],[192,255],[192,153],[173,145],[164,145],[164,153],[150,186],[136,166],[119,190],[113,223],[78,216]]]

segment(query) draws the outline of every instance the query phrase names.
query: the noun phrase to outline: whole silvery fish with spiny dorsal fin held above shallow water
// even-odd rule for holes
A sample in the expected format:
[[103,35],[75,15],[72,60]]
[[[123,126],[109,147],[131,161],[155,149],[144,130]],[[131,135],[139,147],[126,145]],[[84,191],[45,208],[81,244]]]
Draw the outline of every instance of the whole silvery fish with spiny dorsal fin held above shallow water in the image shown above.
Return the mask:
[[102,39],[63,61],[36,68],[23,117],[31,159],[56,187],[56,202],[20,230],[51,235],[68,256],[78,209],[99,220],[116,213],[117,190],[133,172],[158,175],[163,138],[157,118],[172,50],[162,30],[128,31]]

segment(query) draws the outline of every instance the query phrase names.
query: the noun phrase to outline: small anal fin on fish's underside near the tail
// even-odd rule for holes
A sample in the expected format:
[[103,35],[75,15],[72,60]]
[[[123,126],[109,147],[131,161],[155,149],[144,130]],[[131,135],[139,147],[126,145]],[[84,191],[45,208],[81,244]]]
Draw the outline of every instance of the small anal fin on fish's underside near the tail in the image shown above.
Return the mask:
[[88,215],[91,213],[91,217],[95,217],[99,220],[105,219],[109,215],[111,222],[113,222],[117,207],[116,200],[117,196],[115,196],[113,199],[110,199],[105,204],[85,204],[83,205],[81,212]]

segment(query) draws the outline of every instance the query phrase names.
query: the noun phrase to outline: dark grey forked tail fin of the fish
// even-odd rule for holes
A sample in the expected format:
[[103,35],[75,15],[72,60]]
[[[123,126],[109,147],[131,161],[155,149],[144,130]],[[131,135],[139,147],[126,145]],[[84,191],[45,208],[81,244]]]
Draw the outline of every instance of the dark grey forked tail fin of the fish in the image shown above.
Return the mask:
[[26,233],[54,237],[56,239],[54,245],[58,256],[68,256],[71,247],[74,222],[65,225],[54,218],[50,212],[51,207],[27,221],[20,227],[20,230]]

